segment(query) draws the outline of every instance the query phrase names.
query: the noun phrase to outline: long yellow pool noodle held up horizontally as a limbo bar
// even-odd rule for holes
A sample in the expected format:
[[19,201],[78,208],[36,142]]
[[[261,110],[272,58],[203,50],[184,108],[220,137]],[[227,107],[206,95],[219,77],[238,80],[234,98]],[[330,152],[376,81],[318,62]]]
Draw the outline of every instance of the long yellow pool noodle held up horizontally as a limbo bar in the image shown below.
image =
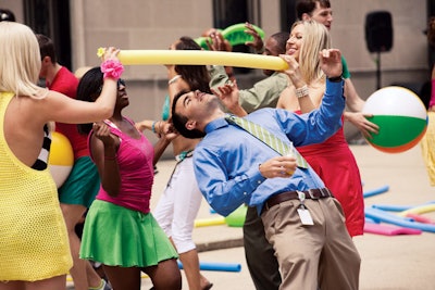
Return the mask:
[[117,58],[124,65],[191,64],[225,65],[284,71],[287,63],[279,56],[243,52],[207,50],[121,50]]

